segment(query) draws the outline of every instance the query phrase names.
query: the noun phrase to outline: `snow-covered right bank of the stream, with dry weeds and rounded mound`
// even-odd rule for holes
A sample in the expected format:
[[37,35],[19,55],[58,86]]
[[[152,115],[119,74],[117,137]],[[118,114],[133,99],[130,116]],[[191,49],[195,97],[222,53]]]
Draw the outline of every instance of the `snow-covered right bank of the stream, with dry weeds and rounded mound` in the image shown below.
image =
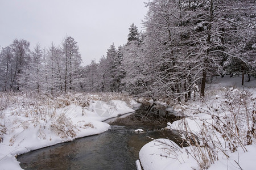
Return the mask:
[[204,101],[176,105],[187,117],[166,129],[180,130],[191,146],[155,139],[139,152],[143,169],[255,169],[255,86],[255,78],[242,87],[241,76],[218,77]]

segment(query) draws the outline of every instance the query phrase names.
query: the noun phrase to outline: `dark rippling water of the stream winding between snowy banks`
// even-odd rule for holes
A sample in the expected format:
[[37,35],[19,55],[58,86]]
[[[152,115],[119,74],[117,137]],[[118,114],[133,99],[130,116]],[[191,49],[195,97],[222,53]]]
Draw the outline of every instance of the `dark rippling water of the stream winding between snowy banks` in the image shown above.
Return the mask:
[[[128,121],[120,118],[122,121],[114,122],[112,129],[105,133],[23,154],[18,157],[20,166],[23,169],[136,169],[135,161],[139,159],[139,150],[152,141],[148,137],[168,137],[175,142],[179,139],[179,134],[175,131],[161,131],[160,123],[140,123],[139,118],[144,114],[155,114],[155,111],[166,114],[166,108],[158,105],[152,107],[155,110],[151,108],[151,111],[143,113],[140,109],[144,111],[144,107],[148,109],[148,105],[142,105],[137,112],[127,117]],[[129,124],[137,114],[142,115]],[[171,115],[170,112],[168,114]],[[168,121],[168,115],[164,121]],[[144,133],[135,133],[136,129],[143,129]]]

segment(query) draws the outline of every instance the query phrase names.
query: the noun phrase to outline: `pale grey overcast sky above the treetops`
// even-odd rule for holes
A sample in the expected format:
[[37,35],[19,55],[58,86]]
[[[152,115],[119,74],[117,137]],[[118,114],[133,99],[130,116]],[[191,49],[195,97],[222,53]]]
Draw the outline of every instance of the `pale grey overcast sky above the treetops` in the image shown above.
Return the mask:
[[78,43],[83,64],[127,42],[132,23],[142,29],[147,0],[0,0],[0,46],[14,39],[48,48],[66,35]]

